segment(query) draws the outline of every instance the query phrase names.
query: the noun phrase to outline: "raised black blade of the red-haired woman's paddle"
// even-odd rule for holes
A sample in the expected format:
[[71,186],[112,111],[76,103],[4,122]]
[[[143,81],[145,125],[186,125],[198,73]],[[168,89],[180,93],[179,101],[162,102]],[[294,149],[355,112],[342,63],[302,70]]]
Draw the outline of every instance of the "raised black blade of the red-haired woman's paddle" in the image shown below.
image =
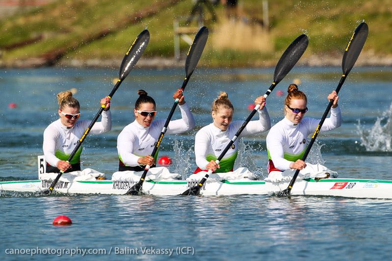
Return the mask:
[[344,49],[342,70],[343,74],[348,74],[357,61],[362,47],[365,45],[366,38],[368,37],[368,24],[365,22],[358,25],[352,34],[347,47]]

